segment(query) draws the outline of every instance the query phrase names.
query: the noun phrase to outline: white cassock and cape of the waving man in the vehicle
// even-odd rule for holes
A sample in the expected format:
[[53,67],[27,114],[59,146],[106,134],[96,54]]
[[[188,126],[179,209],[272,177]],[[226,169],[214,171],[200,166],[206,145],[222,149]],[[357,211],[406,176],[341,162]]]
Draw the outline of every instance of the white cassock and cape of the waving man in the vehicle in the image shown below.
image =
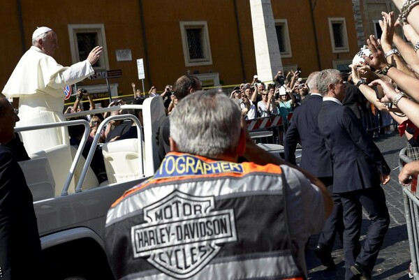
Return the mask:
[[[65,121],[63,88],[93,73],[87,60],[64,67],[38,47],[31,46],[17,63],[2,91],[8,98],[19,97],[20,121],[16,126]],[[25,131],[22,132],[22,141],[28,154],[69,144],[66,128]]]

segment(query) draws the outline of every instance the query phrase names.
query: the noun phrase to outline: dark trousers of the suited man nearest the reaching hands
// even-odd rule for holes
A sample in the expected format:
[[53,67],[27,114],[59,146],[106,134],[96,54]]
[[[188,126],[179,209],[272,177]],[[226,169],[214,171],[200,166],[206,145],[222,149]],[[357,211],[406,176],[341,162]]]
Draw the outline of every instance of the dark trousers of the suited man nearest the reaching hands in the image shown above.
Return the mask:
[[[390,224],[385,194],[381,186],[339,193],[344,209],[344,255],[345,279],[355,279],[351,265],[355,262],[364,265],[368,273],[374,268],[384,235]],[[371,226],[361,246],[362,207],[367,211]]]

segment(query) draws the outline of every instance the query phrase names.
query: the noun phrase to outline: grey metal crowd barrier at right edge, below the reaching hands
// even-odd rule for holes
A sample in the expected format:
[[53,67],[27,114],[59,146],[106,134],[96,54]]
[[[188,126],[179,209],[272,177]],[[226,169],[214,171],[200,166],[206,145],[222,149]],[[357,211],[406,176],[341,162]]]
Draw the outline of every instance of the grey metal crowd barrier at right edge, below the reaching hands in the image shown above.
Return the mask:
[[[404,164],[412,162],[409,156],[406,156],[406,148],[399,152],[399,171]],[[411,252],[411,273],[413,279],[419,280],[419,199],[416,194],[416,188],[411,186],[403,187],[404,212],[406,215],[407,234],[409,236],[409,247]]]

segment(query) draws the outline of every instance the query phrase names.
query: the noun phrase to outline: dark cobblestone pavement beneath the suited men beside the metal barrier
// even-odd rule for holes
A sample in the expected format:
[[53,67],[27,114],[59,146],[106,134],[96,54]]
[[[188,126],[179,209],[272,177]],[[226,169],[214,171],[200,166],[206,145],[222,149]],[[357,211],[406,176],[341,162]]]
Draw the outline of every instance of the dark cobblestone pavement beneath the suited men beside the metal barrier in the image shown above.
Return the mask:
[[[390,174],[390,182],[383,186],[390,212],[390,228],[385,235],[383,246],[378,255],[374,271],[372,272],[372,279],[409,279],[407,273],[409,263],[411,262],[409,238],[404,216],[402,186],[400,186],[397,179],[399,174],[399,151],[406,146],[406,138],[400,138],[399,134],[393,131],[390,135],[381,135],[380,138],[374,138],[374,142],[376,142],[376,145],[381,150],[392,172]],[[368,226],[369,220],[364,213],[361,240],[365,237]],[[334,258],[337,265],[335,271],[326,270],[316,256],[314,256],[312,249],[315,245],[316,238],[313,238],[310,240],[306,252],[309,279],[344,279],[344,254],[339,238],[337,238],[334,251],[332,251],[332,258]]]

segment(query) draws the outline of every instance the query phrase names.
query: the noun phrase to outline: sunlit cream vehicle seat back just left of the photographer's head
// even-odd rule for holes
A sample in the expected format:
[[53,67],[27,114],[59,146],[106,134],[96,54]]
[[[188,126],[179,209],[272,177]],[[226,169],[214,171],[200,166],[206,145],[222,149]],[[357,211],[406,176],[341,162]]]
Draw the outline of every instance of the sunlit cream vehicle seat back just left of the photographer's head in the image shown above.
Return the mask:
[[[106,142],[102,146],[102,153],[109,184],[144,177],[138,159],[137,138]],[[144,156],[142,162],[145,162]]]

